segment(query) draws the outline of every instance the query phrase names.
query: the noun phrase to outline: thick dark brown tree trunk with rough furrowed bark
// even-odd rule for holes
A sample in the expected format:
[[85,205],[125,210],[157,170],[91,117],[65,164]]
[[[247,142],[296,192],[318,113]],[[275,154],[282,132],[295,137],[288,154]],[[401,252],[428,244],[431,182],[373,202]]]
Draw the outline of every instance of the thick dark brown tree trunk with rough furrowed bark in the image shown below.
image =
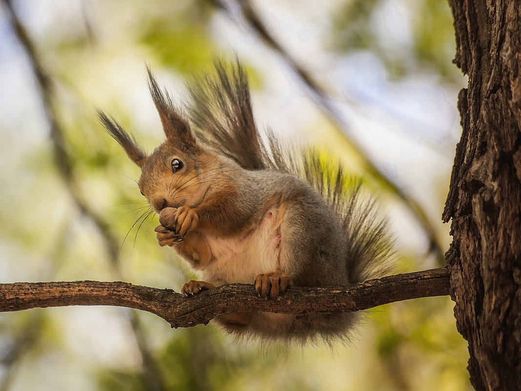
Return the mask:
[[521,389],[521,3],[449,0],[468,75],[443,220],[458,331],[477,391]]

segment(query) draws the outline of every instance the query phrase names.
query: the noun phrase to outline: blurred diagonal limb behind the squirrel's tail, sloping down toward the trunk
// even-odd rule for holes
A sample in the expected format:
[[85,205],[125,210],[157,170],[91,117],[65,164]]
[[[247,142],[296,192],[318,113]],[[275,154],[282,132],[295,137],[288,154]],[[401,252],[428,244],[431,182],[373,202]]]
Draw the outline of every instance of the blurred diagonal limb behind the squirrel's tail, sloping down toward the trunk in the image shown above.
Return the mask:
[[[229,0],[210,0],[216,7],[219,9],[225,10],[232,19],[234,11],[231,10]],[[283,45],[277,40],[274,34],[270,32],[270,30],[265,26],[261,17],[259,17],[257,11],[252,7],[250,1],[248,0],[238,0],[234,2],[238,9],[240,10],[241,17],[249,24],[250,28],[254,31],[254,33],[260,37],[266,46],[268,46],[272,51],[278,53],[280,57],[288,64],[290,68],[298,75],[304,85],[307,87],[308,91],[311,92],[312,98],[315,103],[317,103],[321,108],[324,115],[329,119],[329,121],[334,125],[334,127],[344,136],[345,140],[351,145],[352,149],[357,154],[357,157],[362,161],[363,168],[373,178],[375,178],[379,183],[383,184],[385,188],[391,194],[397,196],[402,203],[413,213],[414,216],[418,219],[418,222],[421,224],[425,234],[429,239],[429,253],[434,253],[440,265],[445,263],[444,250],[443,246],[439,242],[437,238],[437,230],[432,225],[430,219],[427,217],[427,213],[419,205],[414,199],[405,194],[405,192],[395,183],[393,183],[387,175],[385,175],[378,167],[375,166],[373,161],[369,158],[364,148],[362,148],[358,143],[348,135],[348,129],[346,125],[340,120],[342,117],[340,111],[337,107],[332,103],[331,94],[325,89],[324,86],[320,85],[320,83],[313,77],[311,73],[309,73],[300,63],[297,61],[294,56],[292,56]]]

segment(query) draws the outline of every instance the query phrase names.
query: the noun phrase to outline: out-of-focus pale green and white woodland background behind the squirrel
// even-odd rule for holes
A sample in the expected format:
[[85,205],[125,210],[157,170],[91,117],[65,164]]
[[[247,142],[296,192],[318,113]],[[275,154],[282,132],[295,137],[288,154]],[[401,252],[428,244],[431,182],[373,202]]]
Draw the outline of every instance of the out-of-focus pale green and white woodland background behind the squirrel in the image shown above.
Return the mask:
[[[179,291],[191,271],[144,219],[139,169],[95,107],[152,150],[145,65],[176,101],[217,56],[244,62],[259,126],[341,159],[381,203],[397,272],[443,266],[460,137],[441,0],[0,1],[0,282],[122,280]],[[69,307],[0,314],[1,390],[470,390],[449,297],[366,311],[349,345],[237,343],[212,324]]]

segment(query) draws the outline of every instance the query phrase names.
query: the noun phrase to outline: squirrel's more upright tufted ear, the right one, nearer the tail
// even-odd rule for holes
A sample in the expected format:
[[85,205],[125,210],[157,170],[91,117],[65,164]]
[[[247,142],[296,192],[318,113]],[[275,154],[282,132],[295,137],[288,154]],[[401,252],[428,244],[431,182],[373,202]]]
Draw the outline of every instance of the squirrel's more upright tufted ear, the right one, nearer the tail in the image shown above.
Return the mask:
[[152,99],[154,99],[154,104],[156,105],[159,118],[163,124],[167,141],[184,152],[193,153],[196,149],[196,141],[195,136],[190,130],[188,120],[183,118],[173,107],[172,100],[168,93],[163,93],[159,89],[150,68],[146,67],[146,70],[148,72],[148,89],[150,89],[150,94],[152,95]]

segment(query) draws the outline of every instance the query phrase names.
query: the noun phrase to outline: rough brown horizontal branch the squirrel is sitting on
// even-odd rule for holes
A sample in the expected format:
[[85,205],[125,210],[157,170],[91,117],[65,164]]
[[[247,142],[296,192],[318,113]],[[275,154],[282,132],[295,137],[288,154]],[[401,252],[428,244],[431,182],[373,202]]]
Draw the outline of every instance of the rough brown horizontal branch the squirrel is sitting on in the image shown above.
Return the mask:
[[394,301],[449,294],[447,269],[432,269],[370,280],[351,287],[294,286],[274,299],[258,297],[252,285],[219,286],[193,297],[172,289],[126,282],[18,282],[0,284],[0,312],[64,306],[118,306],[156,314],[172,327],[207,324],[216,316],[235,311],[303,314],[351,312]]

